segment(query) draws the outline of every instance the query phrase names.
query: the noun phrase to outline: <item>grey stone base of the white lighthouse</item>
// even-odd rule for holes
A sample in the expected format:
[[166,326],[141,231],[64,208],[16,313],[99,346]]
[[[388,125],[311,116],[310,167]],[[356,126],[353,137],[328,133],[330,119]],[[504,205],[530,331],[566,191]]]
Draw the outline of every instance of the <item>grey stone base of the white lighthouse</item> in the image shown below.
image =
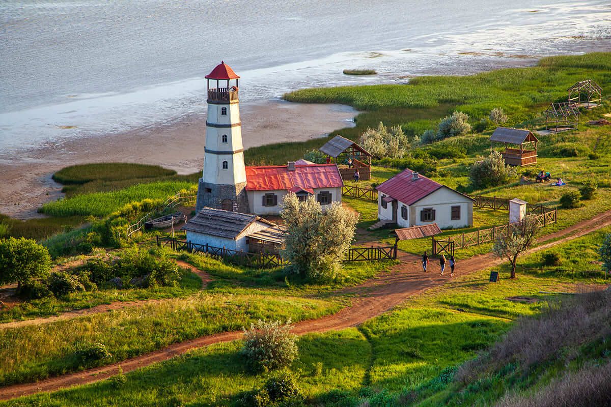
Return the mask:
[[225,211],[237,211],[243,214],[250,213],[248,197],[246,196],[246,182],[238,184],[219,185],[204,182],[199,179],[197,187],[196,211],[203,207],[224,209]]

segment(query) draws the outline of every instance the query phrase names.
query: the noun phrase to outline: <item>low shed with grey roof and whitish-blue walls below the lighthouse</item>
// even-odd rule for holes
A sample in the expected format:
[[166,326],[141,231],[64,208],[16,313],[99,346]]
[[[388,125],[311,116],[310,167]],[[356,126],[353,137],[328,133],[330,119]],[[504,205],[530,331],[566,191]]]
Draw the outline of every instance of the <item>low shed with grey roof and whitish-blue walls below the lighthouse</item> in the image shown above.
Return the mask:
[[[265,238],[261,232],[271,228],[276,228],[276,224],[257,215],[204,207],[182,230],[194,245],[249,252],[249,236]],[[273,236],[274,241],[280,240],[277,233]]]

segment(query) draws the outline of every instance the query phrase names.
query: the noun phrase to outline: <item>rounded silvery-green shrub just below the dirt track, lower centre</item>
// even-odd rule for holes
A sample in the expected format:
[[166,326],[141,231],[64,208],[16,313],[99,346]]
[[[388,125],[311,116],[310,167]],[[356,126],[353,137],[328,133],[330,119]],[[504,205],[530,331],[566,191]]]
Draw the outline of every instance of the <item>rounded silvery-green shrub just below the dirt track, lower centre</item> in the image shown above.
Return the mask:
[[291,320],[257,321],[251,323],[251,329],[244,329],[244,346],[240,353],[246,358],[246,364],[253,372],[273,370],[291,364],[297,356],[296,336],[290,333]]

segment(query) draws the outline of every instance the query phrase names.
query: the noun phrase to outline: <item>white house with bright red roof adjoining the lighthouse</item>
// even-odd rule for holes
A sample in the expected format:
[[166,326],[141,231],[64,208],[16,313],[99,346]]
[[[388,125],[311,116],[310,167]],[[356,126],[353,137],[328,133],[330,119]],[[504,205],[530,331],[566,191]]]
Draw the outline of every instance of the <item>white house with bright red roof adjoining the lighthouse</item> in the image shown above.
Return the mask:
[[250,211],[257,215],[279,215],[287,193],[300,200],[313,195],[323,209],[342,202],[343,180],[335,164],[260,165],[246,167],[246,196]]

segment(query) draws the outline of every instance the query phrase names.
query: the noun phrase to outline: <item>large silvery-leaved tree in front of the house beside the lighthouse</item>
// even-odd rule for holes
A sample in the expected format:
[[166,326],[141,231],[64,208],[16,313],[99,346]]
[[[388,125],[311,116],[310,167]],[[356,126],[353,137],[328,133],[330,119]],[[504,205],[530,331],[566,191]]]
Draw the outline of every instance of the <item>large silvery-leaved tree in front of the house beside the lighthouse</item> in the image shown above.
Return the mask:
[[320,280],[333,278],[354,239],[357,215],[334,202],[326,213],[314,196],[299,201],[295,193],[282,200],[287,228],[282,256],[287,272]]

